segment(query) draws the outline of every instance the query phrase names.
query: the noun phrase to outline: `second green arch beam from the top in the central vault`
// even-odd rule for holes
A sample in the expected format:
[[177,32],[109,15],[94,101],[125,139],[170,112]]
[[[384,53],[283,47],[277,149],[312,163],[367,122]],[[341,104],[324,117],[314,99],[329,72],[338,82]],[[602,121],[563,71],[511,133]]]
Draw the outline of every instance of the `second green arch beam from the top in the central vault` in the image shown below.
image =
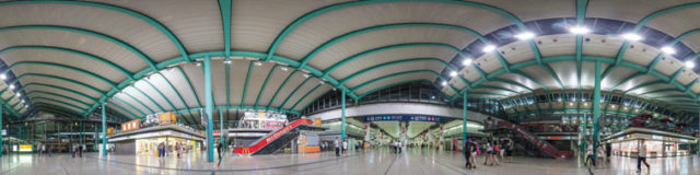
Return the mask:
[[337,36],[337,37],[335,37],[335,38],[322,44],[320,46],[314,48],[306,56],[304,56],[304,58],[302,58],[301,65],[299,67],[303,67],[306,63],[308,63],[308,61],[311,61],[311,59],[316,57],[316,55],[318,52],[323,51],[324,49],[330,47],[334,44],[337,44],[337,43],[340,43],[342,40],[346,40],[346,39],[348,39],[350,37],[353,37],[353,36],[360,35],[360,34],[370,33],[370,32],[381,31],[381,30],[389,30],[389,28],[398,28],[398,27],[413,27],[413,26],[430,26],[430,27],[441,27],[441,28],[457,30],[457,31],[462,31],[462,32],[471,34],[472,36],[477,37],[482,43],[489,43],[478,32],[476,32],[476,31],[474,31],[471,28],[464,27],[464,26],[458,26],[458,25],[440,24],[440,23],[396,23],[396,24],[375,25],[375,26],[370,26],[370,27],[365,27],[365,28],[362,28],[362,30],[352,31],[352,32],[342,34],[340,36]]

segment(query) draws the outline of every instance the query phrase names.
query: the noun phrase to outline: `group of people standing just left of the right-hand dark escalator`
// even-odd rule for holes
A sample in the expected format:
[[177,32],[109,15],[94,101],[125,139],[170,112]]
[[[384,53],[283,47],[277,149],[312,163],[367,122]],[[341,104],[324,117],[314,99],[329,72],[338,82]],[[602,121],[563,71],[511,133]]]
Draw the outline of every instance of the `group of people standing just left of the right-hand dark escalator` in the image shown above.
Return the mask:
[[[483,158],[483,165],[500,165],[501,162],[513,162],[513,141],[510,139],[500,138],[497,140],[488,139],[486,142],[486,156]],[[476,156],[481,154],[481,148],[479,143],[468,138],[467,141],[464,142],[464,151],[465,158],[467,159],[466,167],[467,168],[476,168]],[[500,160],[499,161],[499,156]]]

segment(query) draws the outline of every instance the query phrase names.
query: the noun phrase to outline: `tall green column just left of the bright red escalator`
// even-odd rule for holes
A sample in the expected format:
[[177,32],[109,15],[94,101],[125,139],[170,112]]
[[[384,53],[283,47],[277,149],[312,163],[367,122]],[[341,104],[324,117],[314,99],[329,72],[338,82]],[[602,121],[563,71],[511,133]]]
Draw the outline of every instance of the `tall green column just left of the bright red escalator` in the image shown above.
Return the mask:
[[212,137],[213,122],[211,121],[211,114],[214,109],[214,98],[211,94],[211,58],[207,56],[205,58],[205,95],[207,103],[205,104],[205,115],[207,115],[207,161],[214,162],[214,144]]

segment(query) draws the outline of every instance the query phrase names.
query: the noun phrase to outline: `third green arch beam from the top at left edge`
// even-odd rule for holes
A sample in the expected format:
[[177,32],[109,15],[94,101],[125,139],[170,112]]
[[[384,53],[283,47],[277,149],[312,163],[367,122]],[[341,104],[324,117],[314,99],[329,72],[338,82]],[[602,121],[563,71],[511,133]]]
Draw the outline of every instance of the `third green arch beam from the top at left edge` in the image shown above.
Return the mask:
[[131,72],[129,72],[126,69],[124,69],[120,66],[115,65],[114,62],[112,62],[109,60],[106,60],[104,58],[97,57],[97,56],[92,55],[92,54],[88,54],[88,52],[83,52],[83,51],[79,51],[79,50],[74,50],[74,49],[70,49],[70,48],[54,47],[54,46],[12,46],[12,47],[8,47],[8,48],[4,48],[4,49],[0,50],[0,55],[4,54],[7,51],[10,51],[10,50],[20,50],[20,49],[54,50],[54,51],[61,51],[61,52],[68,52],[68,54],[73,54],[73,55],[86,57],[86,58],[90,58],[92,60],[95,60],[95,61],[102,62],[104,65],[107,65],[113,69],[116,69],[117,71],[121,72],[121,74],[127,77],[127,79],[133,79],[133,74]]

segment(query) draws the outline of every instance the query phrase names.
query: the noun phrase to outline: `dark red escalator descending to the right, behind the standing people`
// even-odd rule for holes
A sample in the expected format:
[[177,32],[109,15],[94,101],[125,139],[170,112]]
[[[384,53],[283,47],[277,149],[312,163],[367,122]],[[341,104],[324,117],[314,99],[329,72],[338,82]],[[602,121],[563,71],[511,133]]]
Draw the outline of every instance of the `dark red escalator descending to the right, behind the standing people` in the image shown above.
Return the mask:
[[[572,151],[561,151],[557,148],[555,148],[553,145],[551,145],[549,142],[544,141],[544,140],[539,140],[537,139],[537,137],[535,137],[533,133],[528,132],[527,130],[521,128],[520,126],[509,122],[509,121],[498,121],[497,124],[498,128],[505,128],[505,129],[510,129],[511,131],[515,132],[516,135],[521,136],[522,138],[520,140],[523,141],[527,141],[529,143],[532,143],[529,147],[524,147],[523,149],[525,150],[533,150],[533,149],[538,149],[540,150],[542,153],[545,153],[548,156],[552,156],[552,158],[571,158],[573,156],[573,152]],[[527,151],[528,154],[536,154],[534,152]]]

